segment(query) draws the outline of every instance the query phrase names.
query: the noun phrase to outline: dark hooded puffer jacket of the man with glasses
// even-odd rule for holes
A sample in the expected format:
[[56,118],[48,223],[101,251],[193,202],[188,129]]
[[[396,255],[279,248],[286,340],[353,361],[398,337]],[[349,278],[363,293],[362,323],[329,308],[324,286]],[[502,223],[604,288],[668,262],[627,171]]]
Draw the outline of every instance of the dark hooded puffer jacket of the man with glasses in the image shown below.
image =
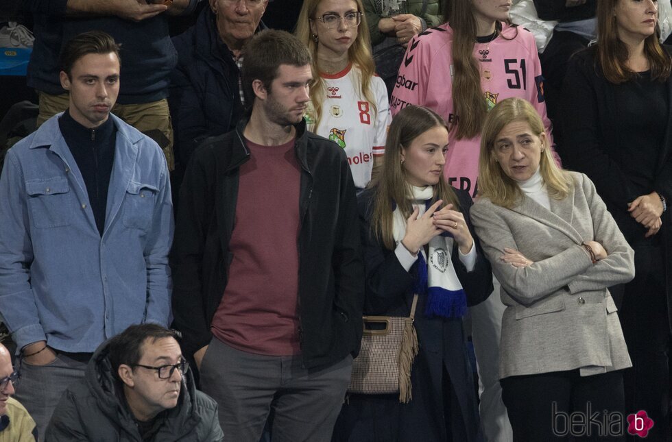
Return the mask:
[[[46,442],[146,442],[112,376],[108,343],[101,344],[86,367],[84,379],[61,397],[45,433]],[[178,405],[167,411],[152,442],[221,442],[217,403],[195,389],[188,371],[182,378]]]

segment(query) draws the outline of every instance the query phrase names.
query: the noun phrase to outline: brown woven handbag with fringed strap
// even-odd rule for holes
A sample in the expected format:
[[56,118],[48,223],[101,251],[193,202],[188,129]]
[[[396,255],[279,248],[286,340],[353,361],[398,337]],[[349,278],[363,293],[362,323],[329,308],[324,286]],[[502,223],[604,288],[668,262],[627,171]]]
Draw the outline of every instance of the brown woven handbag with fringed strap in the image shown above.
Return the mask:
[[[374,395],[399,393],[399,402],[411,400],[411,367],[418,354],[413,327],[418,295],[413,295],[411,315],[365,316],[359,356],[352,362],[350,393]],[[383,328],[381,328],[383,326]]]

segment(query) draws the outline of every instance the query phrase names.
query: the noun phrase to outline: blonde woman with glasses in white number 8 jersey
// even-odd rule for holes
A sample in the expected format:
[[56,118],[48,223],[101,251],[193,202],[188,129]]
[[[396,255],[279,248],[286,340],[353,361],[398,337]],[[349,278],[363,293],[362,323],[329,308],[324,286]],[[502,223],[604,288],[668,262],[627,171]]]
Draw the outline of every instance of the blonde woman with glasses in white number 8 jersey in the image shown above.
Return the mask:
[[306,114],[309,129],[345,150],[357,188],[368,184],[385,153],[390,119],[362,11],[361,0],[307,0],[296,25],[317,74]]

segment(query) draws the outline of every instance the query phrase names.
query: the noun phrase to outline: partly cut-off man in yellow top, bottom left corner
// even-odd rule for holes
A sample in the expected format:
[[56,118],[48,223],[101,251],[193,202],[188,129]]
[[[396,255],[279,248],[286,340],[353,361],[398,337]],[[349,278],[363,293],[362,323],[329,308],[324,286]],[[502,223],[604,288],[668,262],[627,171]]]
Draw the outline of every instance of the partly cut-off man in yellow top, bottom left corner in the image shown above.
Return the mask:
[[10,352],[0,344],[0,442],[37,441],[35,421],[23,405],[12,398],[17,384],[19,371],[14,371]]

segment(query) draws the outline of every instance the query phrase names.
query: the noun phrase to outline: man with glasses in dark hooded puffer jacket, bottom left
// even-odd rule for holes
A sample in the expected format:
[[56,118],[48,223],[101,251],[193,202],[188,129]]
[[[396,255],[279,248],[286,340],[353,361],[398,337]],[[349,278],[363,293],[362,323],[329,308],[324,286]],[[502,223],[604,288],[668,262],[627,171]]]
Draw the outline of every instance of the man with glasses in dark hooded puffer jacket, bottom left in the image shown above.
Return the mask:
[[195,389],[177,334],[130,326],[96,350],[54,411],[49,442],[218,442],[217,404]]

